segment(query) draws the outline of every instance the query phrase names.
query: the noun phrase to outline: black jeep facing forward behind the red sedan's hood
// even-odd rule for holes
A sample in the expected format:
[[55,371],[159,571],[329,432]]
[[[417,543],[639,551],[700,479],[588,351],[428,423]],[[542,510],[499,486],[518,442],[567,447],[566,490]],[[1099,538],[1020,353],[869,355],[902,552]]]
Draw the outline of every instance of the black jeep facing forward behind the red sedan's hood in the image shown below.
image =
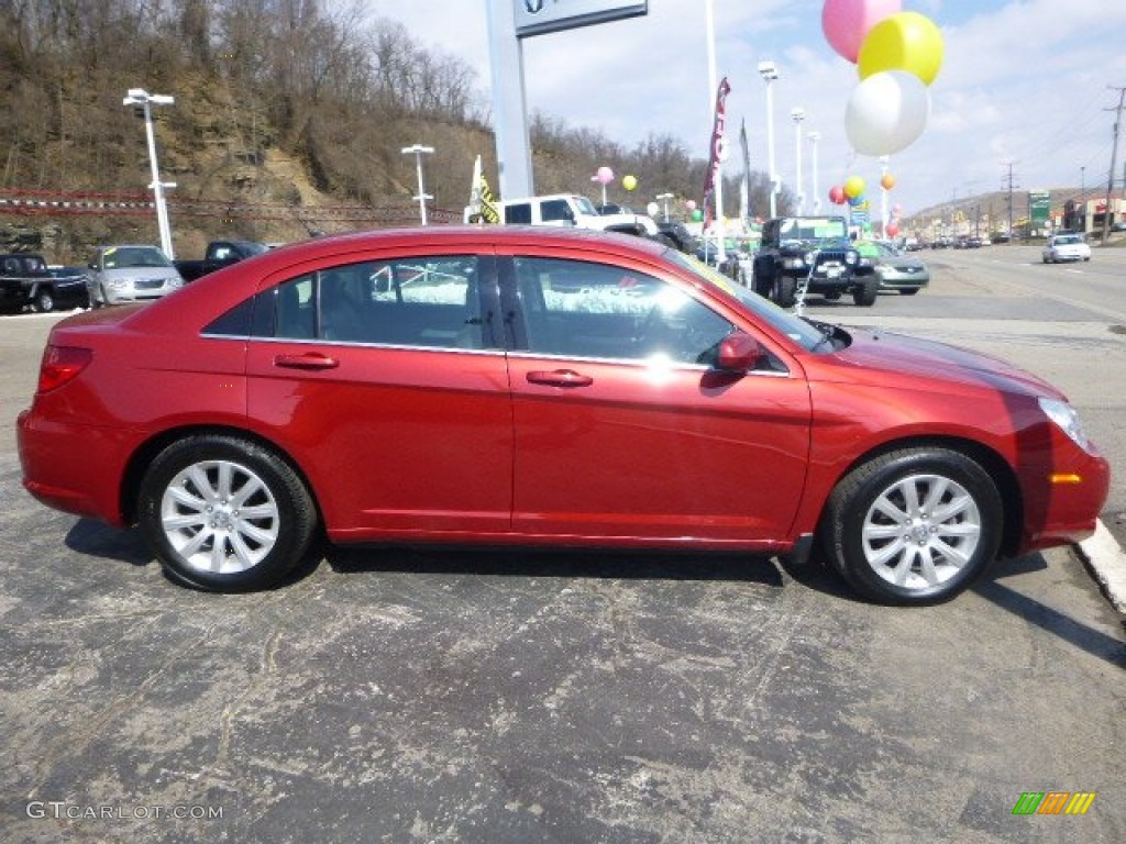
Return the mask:
[[830,300],[850,293],[857,305],[876,304],[879,276],[849,241],[843,217],[778,217],[763,224],[754,291],[792,307],[803,284],[806,293]]

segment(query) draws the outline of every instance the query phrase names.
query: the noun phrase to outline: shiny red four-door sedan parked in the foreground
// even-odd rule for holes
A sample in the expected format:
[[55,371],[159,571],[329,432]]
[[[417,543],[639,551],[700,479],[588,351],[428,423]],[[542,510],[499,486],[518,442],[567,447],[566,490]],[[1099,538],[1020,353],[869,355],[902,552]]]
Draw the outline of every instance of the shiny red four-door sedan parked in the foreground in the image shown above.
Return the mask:
[[427,227],[310,241],[52,331],[39,501],[140,524],[176,580],[336,542],[745,549],[814,538],[928,603],[1089,536],[1106,460],[1000,360],[781,311],[655,242]]

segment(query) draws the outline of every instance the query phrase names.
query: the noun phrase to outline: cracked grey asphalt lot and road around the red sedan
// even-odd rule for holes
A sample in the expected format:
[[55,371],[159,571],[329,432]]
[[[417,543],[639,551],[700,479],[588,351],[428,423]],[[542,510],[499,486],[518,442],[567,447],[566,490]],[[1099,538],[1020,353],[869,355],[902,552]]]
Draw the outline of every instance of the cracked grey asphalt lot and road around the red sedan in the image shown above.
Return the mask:
[[[1126,252],[995,250],[811,312],[1047,375],[1120,513]],[[921,610],[733,555],[330,551],[274,592],[190,592],[19,487],[51,322],[0,320],[5,842],[1126,841],[1123,619],[1070,549]],[[1052,791],[1094,798],[1013,814]]]

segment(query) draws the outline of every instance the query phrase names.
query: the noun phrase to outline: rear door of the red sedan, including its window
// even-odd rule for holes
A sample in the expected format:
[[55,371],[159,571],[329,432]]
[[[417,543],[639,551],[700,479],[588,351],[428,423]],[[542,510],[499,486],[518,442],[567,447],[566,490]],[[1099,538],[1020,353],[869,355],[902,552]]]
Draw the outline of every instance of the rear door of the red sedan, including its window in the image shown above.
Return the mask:
[[338,260],[256,297],[248,407],[330,536],[507,532],[512,421],[494,260]]

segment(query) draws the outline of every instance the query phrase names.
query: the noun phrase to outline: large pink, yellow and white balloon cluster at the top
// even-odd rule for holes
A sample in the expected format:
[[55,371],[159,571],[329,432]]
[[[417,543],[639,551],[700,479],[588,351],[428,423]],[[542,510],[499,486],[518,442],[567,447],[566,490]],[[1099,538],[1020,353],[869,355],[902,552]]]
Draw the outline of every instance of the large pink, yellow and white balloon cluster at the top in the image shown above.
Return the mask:
[[825,0],[821,28],[857,66],[844,128],[864,155],[892,155],[913,144],[930,118],[930,91],[942,64],[942,36],[930,18],[900,0]]

